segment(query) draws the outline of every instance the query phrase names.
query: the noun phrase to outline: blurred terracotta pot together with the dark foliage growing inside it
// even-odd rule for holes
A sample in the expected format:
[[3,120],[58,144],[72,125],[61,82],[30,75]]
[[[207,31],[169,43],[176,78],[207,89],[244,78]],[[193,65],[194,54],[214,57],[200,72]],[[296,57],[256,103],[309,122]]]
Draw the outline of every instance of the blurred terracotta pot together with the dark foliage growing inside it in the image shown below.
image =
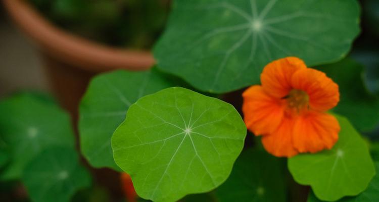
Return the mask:
[[[108,9],[110,10],[108,16],[104,12],[107,12],[107,5],[110,7],[114,4],[112,1],[97,1],[97,8],[88,8],[94,3],[88,4],[86,1],[4,0],[3,3],[15,24],[38,46],[56,96],[73,115],[77,114],[79,99],[93,75],[114,69],[150,68],[154,59],[149,48],[163,27],[168,9],[166,1],[152,1],[148,4],[119,1],[119,5],[132,9],[120,11],[124,16],[111,18],[109,15],[112,15],[114,10]],[[55,7],[51,4],[55,4]],[[146,5],[150,5],[150,10],[139,9],[145,8]],[[133,8],[136,8],[136,11],[133,11]],[[158,17],[151,15],[155,10]],[[102,13],[94,13],[96,11]],[[80,21],[86,17],[86,12],[91,12],[92,18]],[[145,18],[150,21],[138,22]],[[108,21],[100,22],[104,19]],[[107,30],[109,26],[101,27],[109,22],[116,24],[111,27],[112,31]],[[85,27],[88,24],[93,26],[78,30],[78,27]],[[145,24],[154,24],[155,27],[145,28]],[[102,33],[98,37],[91,38],[91,34],[88,33],[94,35],[94,32],[105,32],[104,30],[107,33]],[[118,36],[115,36],[116,33]],[[112,37],[121,39],[112,41]]]

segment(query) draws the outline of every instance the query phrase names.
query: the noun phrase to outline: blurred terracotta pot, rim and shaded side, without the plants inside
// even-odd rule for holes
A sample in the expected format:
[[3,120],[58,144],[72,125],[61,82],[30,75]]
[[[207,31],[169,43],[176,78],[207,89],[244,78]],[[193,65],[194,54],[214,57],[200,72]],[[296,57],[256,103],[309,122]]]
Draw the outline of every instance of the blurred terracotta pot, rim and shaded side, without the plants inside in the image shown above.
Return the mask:
[[114,69],[146,70],[154,64],[148,51],[108,47],[68,33],[26,2],[3,0],[13,21],[39,47],[52,90],[74,121],[79,100],[93,75]]

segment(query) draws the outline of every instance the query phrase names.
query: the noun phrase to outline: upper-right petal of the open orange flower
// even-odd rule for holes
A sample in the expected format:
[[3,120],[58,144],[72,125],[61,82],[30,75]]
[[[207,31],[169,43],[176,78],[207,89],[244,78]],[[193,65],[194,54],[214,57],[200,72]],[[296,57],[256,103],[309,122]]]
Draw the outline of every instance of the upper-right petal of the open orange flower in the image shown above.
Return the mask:
[[309,95],[311,109],[327,111],[336,107],[340,101],[338,85],[325,73],[307,68],[297,71],[292,76],[292,86],[304,90]]

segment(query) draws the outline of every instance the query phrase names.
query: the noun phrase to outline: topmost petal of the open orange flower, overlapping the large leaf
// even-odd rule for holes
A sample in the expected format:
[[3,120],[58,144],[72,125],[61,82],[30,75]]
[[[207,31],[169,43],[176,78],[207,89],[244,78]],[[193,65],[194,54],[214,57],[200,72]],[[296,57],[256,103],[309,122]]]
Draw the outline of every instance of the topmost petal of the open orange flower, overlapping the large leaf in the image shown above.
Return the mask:
[[292,75],[307,66],[302,60],[295,57],[287,57],[273,61],[266,65],[261,74],[263,89],[271,96],[281,98],[292,89]]

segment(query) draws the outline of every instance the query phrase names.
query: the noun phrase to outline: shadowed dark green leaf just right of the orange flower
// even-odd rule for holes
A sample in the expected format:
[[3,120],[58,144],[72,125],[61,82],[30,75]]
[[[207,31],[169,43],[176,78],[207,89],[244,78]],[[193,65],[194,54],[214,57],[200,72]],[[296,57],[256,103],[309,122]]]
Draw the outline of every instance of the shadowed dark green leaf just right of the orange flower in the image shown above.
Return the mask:
[[373,130],[379,123],[379,99],[365,87],[362,79],[364,67],[345,59],[317,69],[339,85],[341,100],[333,111],[348,118],[358,131]]

